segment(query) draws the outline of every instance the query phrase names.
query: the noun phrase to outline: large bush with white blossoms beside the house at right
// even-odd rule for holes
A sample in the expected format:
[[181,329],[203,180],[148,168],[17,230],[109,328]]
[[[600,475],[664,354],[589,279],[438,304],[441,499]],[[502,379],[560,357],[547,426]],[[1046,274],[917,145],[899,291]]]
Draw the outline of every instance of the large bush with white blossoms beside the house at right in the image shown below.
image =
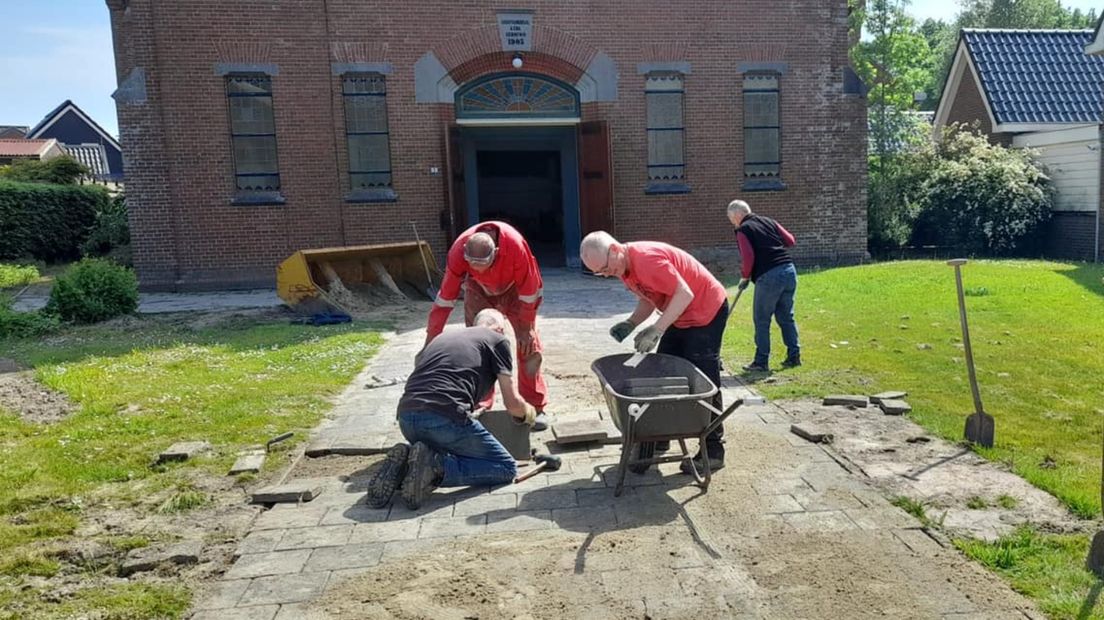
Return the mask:
[[974,254],[1034,254],[1042,247],[1053,188],[1031,153],[989,143],[954,126],[933,147],[912,240]]

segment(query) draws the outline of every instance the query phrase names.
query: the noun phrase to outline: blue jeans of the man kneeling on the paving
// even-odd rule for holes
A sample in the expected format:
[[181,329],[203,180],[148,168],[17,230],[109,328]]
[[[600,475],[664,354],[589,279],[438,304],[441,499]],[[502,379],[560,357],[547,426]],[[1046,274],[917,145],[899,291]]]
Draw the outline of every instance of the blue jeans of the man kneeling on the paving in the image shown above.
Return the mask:
[[399,429],[411,443],[422,441],[440,455],[440,487],[513,482],[518,463],[477,420],[454,420],[433,411],[399,414]]

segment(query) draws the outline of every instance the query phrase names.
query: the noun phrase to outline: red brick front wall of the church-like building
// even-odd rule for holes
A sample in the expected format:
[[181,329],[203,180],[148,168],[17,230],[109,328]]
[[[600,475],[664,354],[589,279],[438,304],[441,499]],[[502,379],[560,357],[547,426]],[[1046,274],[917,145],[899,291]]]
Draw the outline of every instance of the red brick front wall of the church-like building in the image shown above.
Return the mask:
[[[126,4],[126,9],[123,6]],[[598,52],[618,99],[584,105],[609,122],[615,231],[687,247],[731,246],[724,207],[742,197],[782,221],[805,263],[866,256],[866,101],[842,95],[847,3],[656,0],[416,3],[365,0],[112,0],[120,79],[147,73],[146,104],[120,104],[135,260],[147,289],[270,284],[302,247],[406,240],[417,223],[438,256],[447,233],[446,104],[414,100],[414,64],[433,51],[457,82],[509,71],[495,11],[534,11],[527,71],[572,81]],[[691,193],[646,195],[644,76],[637,63],[684,61]],[[742,62],[781,62],[779,192],[743,193]],[[352,204],[340,95],[331,62],[386,62],[395,203]],[[236,206],[224,78],[216,63],[272,63],[286,204]],[[431,168],[440,173],[432,174]]]

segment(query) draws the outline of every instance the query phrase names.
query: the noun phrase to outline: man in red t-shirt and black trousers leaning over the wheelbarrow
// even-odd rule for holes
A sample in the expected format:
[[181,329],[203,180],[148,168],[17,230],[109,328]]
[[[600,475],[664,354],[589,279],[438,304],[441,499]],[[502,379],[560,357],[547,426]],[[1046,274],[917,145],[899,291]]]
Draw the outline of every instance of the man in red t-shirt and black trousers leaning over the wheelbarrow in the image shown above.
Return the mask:
[[[721,385],[721,339],[729,318],[724,287],[688,253],[665,243],[618,243],[609,233],[597,231],[583,238],[581,258],[587,269],[603,277],[617,277],[637,297],[636,310],[611,328],[617,342],[625,340],[651,313],[659,319],[637,333],[636,350],[644,353],[659,345],[657,353],[683,357]],[[713,397],[721,410],[721,393]],[[718,427],[705,441],[712,469],[724,467],[724,428]],[[701,452],[694,460],[701,467]],[[690,463],[682,463],[690,472]]]

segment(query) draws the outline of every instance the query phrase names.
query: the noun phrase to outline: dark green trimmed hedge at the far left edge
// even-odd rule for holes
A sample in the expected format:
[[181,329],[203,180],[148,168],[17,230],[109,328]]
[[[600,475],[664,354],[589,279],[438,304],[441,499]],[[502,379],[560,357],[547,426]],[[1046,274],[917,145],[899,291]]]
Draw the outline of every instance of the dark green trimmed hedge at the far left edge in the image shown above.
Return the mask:
[[0,181],[0,259],[78,258],[96,213],[109,210],[109,202],[98,185]]

